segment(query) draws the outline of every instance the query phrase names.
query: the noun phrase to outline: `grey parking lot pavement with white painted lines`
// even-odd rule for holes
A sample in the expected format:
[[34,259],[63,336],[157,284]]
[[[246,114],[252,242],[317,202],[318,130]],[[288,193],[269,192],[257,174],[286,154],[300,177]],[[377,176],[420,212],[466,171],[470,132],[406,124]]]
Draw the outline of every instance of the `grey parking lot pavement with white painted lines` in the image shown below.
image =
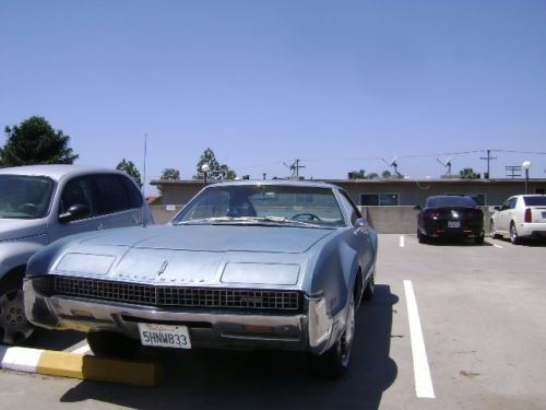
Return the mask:
[[[342,380],[312,378],[296,353],[149,350],[167,371],[158,387],[0,371],[0,409],[545,409],[545,266],[544,243],[420,245],[380,235],[376,295],[358,312]],[[39,331],[32,342],[84,344],[78,332]],[[427,374],[432,394],[418,397]]]

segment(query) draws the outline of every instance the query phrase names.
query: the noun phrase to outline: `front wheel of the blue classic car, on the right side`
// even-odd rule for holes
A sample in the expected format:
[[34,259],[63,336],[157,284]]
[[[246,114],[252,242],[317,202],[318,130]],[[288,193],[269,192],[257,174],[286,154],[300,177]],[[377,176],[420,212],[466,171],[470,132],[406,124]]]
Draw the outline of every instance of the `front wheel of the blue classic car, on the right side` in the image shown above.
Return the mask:
[[[353,293],[353,292],[352,292]],[[355,298],[351,295],[345,329],[340,339],[320,355],[310,355],[310,367],[313,375],[325,379],[340,379],[347,373],[351,349],[355,335]]]

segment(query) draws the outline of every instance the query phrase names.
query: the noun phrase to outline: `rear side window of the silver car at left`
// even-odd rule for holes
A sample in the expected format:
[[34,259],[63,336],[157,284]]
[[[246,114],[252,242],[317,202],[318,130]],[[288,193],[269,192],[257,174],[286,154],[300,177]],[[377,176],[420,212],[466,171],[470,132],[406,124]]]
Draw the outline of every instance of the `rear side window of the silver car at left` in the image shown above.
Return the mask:
[[104,215],[131,209],[126,187],[117,175],[94,175],[97,214]]

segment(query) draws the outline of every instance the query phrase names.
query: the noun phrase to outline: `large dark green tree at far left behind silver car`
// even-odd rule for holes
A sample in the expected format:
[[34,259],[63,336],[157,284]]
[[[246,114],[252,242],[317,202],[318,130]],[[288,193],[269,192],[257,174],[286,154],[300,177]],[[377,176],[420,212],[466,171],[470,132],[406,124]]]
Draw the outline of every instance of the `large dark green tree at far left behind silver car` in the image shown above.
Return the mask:
[[31,117],[19,126],[5,127],[0,166],[73,164],[80,155],[69,147],[70,137],[55,130],[44,117]]

